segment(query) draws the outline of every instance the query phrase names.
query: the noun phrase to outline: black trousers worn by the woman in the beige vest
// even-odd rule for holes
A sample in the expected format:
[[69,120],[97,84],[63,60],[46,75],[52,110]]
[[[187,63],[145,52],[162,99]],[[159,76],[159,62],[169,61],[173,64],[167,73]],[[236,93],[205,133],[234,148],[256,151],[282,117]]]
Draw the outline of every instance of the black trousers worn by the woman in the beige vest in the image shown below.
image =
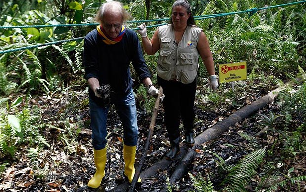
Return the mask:
[[170,141],[180,136],[180,117],[182,117],[186,133],[193,131],[196,78],[189,84],[166,81],[160,77],[157,77],[157,82],[163,88],[165,94],[163,99],[164,121]]

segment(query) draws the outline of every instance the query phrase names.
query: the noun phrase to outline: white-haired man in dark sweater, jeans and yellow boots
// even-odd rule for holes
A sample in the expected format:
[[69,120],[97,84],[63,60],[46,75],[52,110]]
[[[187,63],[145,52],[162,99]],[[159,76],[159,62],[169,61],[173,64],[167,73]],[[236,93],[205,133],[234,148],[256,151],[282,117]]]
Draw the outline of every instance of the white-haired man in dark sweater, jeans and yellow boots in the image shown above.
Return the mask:
[[[89,84],[92,145],[96,165],[96,173],[88,182],[91,188],[98,188],[105,175],[106,122],[109,109],[106,97],[115,105],[123,125],[124,175],[131,183],[135,174],[138,126],[129,69],[131,62],[148,93],[158,95],[158,89],[152,85],[136,32],[123,25],[129,17],[120,2],[107,1],[99,8],[95,17],[100,25],[84,39],[84,77]],[[106,85],[110,88],[109,95],[99,91],[99,88]],[[141,182],[140,178],[138,182]]]

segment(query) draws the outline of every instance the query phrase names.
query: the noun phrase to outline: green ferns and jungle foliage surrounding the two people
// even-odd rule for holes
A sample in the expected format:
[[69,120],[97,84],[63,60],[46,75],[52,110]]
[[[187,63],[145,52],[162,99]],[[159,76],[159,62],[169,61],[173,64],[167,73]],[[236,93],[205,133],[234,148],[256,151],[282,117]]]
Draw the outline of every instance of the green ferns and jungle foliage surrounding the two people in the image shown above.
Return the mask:
[[[61,26],[63,24],[94,23],[93,17],[105,0],[1,0],[0,26],[45,25],[45,27],[1,28],[1,51],[41,45],[44,43],[84,37],[95,25]],[[262,8],[297,0],[192,0],[195,16],[229,13]],[[149,20],[169,18],[172,0],[121,0],[133,19]],[[52,7],[52,8],[50,8]],[[147,26],[167,23],[167,21],[147,22]],[[271,177],[265,167],[276,169],[279,162],[268,161],[273,153],[281,148],[281,159],[290,160],[297,154],[306,155],[306,3],[264,9],[253,15],[246,13],[196,20],[203,28],[211,47],[216,64],[247,62],[248,79],[240,84],[237,92],[246,86],[263,85],[266,91],[272,87],[292,82],[277,98],[277,114],[258,115],[256,126],[266,126],[275,138],[274,144],[267,148],[254,149],[248,156],[241,158],[239,164],[229,166],[219,157],[218,163],[227,177],[222,182],[224,189],[243,191],[256,174]],[[59,25],[48,27],[48,25]],[[136,28],[139,23],[128,22],[128,28]],[[148,28],[151,37],[156,28]],[[66,153],[76,151],[76,137],[89,122],[82,117],[69,118],[76,110],[88,108],[88,99],[76,103],[77,97],[87,94],[87,84],[83,79],[82,39],[48,46],[40,46],[0,54],[0,174],[6,172],[24,154],[31,159],[30,166],[37,167],[38,154],[52,148],[48,142],[47,131],[55,131],[57,142],[63,143]],[[156,83],[156,61],[158,53],[145,55],[146,62]],[[200,66],[203,62],[200,61]],[[137,80],[135,72],[134,90],[140,110],[149,113],[154,98],[146,95],[146,89]],[[218,75],[218,73],[217,73]],[[199,86],[207,84],[208,74],[204,67],[199,68]],[[219,90],[229,84],[221,84]],[[240,89],[240,90],[239,90]],[[218,106],[230,100],[235,106],[232,91],[212,93],[207,91],[204,98]],[[65,110],[56,111],[58,121],[43,117],[40,99],[66,99]],[[207,106],[203,106],[205,109]],[[261,167],[260,169],[258,167]],[[265,172],[266,171],[266,172]],[[277,189],[303,182],[306,176],[293,174],[290,167],[285,179],[275,185],[265,187],[258,184],[258,190]],[[236,175],[243,173],[243,178]],[[284,173],[285,174],[285,173]],[[40,176],[43,177],[44,174]],[[198,191],[215,191],[210,180],[192,177]],[[236,180],[237,181],[236,181]],[[302,188],[301,188],[301,191]]]

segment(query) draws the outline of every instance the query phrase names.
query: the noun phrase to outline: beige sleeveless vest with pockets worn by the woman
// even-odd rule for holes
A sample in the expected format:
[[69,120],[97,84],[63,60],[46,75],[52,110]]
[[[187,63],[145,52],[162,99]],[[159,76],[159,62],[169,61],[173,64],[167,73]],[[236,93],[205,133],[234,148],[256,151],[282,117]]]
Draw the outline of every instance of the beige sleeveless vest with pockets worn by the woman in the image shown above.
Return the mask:
[[201,28],[187,26],[182,40],[176,45],[172,24],[158,28],[160,53],[157,74],[164,80],[191,83],[197,75],[199,52],[197,43]]

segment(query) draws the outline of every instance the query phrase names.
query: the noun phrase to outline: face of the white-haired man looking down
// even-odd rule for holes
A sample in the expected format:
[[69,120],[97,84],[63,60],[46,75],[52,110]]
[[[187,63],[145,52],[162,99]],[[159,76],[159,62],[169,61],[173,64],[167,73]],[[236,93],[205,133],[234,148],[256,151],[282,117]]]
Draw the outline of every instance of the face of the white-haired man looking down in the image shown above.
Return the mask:
[[109,37],[116,38],[120,34],[122,23],[123,21],[120,13],[108,12],[104,15],[102,26]]

